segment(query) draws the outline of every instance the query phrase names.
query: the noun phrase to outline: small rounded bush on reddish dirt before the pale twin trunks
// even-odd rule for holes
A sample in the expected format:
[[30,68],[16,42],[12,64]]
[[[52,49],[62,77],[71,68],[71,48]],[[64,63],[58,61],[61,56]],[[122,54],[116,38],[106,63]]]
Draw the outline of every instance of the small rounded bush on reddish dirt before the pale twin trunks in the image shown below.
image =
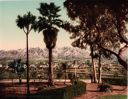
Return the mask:
[[111,85],[106,84],[106,83],[102,83],[98,86],[98,89],[100,92],[112,92],[113,88]]

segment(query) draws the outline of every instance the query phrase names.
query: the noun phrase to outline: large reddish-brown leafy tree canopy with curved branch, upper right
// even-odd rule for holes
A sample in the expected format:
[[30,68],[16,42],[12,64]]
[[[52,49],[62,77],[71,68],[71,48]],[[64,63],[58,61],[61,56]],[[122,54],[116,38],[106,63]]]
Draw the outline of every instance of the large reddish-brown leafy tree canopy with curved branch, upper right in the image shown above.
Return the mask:
[[[121,54],[123,49],[128,48],[128,39],[124,35],[126,33],[125,25],[128,22],[128,1],[66,0],[64,5],[72,20],[79,19],[77,33],[73,33],[74,38],[77,37],[77,45],[86,45],[87,39],[92,33],[93,43],[98,48],[115,55],[119,63],[127,69],[127,62],[121,57]],[[120,48],[122,42],[125,43],[125,46]],[[118,53],[115,52],[117,48]]]

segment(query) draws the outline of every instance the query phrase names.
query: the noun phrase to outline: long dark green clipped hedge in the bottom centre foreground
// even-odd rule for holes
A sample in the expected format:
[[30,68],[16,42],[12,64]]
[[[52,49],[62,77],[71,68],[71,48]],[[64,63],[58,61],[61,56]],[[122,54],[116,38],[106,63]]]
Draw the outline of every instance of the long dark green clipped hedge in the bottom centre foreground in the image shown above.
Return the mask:
[[83,82],[77,82],[76,85],[72,86],[42,90],[39,93],[31,94],[30,99],[71,99],[83,94],[85,91],[86,84]]

